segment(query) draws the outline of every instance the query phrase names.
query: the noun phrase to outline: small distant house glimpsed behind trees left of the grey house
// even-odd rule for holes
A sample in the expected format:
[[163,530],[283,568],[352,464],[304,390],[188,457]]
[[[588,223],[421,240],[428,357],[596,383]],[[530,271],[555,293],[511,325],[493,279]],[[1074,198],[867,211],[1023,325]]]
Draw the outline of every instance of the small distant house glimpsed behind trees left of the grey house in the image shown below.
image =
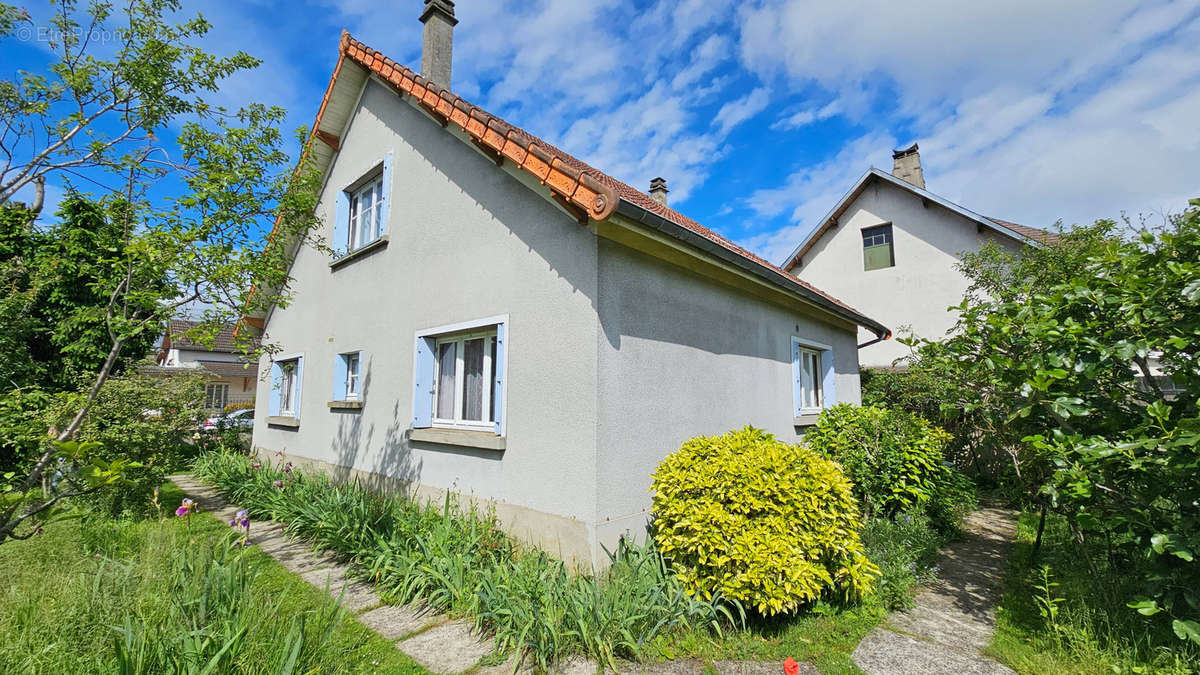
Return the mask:
[[229,404],[254,402],[258,390],[258,364],[247,362],[234,345],[234,327],[221,329],[208,348],[185,335],[199,322],[172,319],[167,323],[162,345],[158,347],[157,366],[142,369],[149,375],[174,375],[202,372],[208,378],[204,386],[204,407],[220,411]]

